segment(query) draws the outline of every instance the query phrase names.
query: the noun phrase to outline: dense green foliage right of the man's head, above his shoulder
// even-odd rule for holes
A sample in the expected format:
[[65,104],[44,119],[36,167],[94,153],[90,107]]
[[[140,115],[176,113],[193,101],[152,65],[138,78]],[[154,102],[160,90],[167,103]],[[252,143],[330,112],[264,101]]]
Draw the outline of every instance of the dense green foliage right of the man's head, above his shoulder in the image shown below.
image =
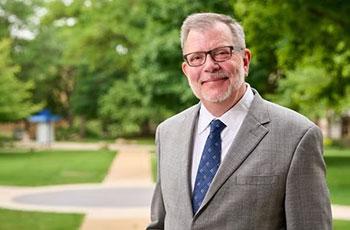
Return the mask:
[[348,110],[349,10],[347,1],[234,1],[253,50],[249,81],[314,119]]

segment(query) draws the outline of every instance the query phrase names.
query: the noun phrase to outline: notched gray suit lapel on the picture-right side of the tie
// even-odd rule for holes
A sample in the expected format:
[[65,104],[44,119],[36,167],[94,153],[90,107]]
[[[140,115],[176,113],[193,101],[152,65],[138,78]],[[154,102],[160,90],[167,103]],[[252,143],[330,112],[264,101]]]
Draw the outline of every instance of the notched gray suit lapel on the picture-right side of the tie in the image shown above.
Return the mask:
[[195,216],[200,213],[200,210],[213,198],[225,181],[240,167],[269,131],[263,126],[263,124],[270,121],[265,104],[266,102],[262,100],[256,91],[254,93],[254,100],[248,114],[229,149],[229,153],[221,163],[208,193],[204,198],[202,206]]

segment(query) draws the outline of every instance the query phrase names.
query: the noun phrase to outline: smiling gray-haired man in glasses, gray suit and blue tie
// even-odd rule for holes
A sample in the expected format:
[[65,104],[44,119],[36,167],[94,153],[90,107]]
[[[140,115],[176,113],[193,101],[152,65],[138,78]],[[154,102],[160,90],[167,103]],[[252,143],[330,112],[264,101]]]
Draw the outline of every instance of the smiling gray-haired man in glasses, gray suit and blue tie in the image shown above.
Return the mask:
[[331,229],[321,132],[245,83],[251,52],[242,27],[193,14],[181,45],[200,103],[157,129],[147,229]]

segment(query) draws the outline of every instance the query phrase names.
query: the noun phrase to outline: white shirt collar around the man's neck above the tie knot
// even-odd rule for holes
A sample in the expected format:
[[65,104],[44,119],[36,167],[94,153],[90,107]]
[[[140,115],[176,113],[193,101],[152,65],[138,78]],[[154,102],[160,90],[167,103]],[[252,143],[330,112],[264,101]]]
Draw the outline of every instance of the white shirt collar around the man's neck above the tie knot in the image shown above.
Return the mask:
[[207,128],[209,128],[209,124],[213,119],[220,119],[228,128],[235,125],[234,118],[238,113],[247,113],[248,109],[254,99],[254,93],[248,83],[246,83],[247,89],[243,95],[243,97],[228,111],[226,111],[220,117],[215,117],[212,115],[207,108],[203,104],[201,104],[201,108],[199,111],[198,118],[198,126],[197,126],[197,134],[203,133]]

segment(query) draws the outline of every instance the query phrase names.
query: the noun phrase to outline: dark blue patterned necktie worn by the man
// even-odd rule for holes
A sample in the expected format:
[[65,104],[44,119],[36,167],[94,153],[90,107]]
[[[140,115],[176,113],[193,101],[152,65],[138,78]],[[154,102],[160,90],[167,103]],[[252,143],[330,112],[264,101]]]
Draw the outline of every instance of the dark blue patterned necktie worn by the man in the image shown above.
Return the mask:
[[205,194],[220,166],[221,160],[221,131],[226,127],[220,120],[210,122],[210,134],[204,145],[201,160],[192,194],[192,209],[196,213],[201,206]]

